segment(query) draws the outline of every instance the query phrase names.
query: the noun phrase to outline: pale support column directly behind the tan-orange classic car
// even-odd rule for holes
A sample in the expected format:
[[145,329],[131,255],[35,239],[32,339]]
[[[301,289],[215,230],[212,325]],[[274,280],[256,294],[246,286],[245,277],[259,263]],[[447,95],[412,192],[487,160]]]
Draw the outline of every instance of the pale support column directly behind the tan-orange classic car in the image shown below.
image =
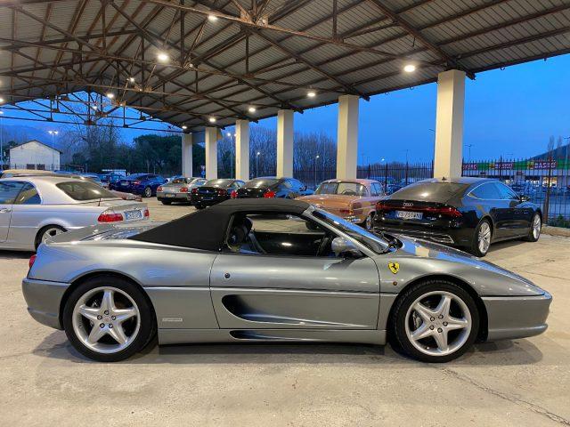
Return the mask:
[[337,178],[356,179],[358,161],[357,95],[338,97]]

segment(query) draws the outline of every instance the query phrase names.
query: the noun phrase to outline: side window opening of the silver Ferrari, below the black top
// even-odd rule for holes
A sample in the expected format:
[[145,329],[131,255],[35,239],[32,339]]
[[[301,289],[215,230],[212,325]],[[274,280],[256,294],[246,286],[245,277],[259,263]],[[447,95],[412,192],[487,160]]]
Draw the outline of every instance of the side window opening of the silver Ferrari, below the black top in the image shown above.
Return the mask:
[[227,246],[238,254],[334,257],[331,241],[330,232],[297,215],[241,214]]

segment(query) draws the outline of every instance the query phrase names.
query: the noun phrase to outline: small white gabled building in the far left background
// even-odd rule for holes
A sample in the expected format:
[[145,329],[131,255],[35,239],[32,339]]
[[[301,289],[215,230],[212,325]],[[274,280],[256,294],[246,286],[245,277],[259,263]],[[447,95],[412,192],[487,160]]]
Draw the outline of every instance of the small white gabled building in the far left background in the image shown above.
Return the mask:
[[60,169],[60,156],[59,149],[32,140],[10,149],[10,168],[55,171]]

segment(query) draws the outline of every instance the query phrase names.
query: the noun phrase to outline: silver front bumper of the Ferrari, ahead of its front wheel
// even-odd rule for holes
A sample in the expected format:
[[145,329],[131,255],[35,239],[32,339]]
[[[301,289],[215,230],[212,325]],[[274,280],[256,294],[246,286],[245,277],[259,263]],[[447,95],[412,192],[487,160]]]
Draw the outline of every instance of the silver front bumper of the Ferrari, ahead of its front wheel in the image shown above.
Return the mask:
[[484,296],[487,310],[487,341],[513,340],[542,334],[548,325],[552,295]]

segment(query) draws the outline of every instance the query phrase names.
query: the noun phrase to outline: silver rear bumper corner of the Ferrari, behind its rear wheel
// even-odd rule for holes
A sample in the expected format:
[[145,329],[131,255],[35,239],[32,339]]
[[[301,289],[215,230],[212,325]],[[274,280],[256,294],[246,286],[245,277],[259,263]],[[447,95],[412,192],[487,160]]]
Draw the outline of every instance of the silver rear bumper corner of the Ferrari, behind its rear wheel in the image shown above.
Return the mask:
[[60,322],[61,298],[69,283],[48,282],[33,278],[24,278],[21,290],[28,304],[28,313],[37,322],[62,329]]

